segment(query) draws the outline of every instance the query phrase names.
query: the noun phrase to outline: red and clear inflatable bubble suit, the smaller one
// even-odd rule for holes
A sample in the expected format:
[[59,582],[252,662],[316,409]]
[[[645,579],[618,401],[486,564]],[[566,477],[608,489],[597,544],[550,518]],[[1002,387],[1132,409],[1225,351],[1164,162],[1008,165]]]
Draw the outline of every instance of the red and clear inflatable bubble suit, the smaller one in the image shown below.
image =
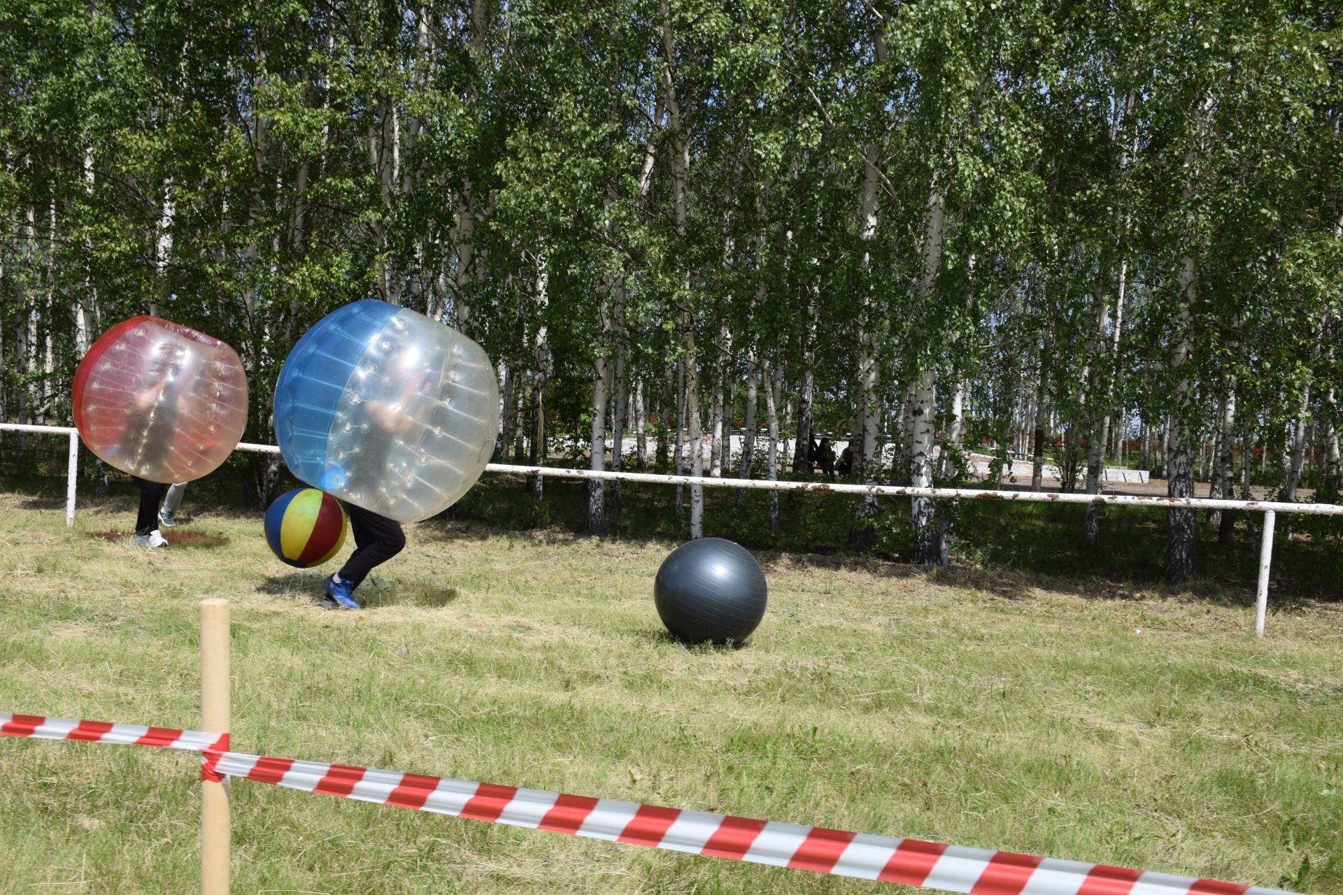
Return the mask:
[[218,338],[132,317],[79,361],[71,404],[79,436],[111,466],[150,482],[191,482],[238,447],[247,376]]

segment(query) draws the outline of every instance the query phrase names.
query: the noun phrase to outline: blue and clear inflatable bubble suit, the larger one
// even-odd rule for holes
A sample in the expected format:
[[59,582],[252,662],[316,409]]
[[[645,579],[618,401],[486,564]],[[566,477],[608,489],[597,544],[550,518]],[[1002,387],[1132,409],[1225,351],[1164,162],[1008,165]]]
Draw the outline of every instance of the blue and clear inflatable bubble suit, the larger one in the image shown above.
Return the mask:
[[485,349],[372,299],[317,321],[275,382],[275,439],[290,472],[399,522],[466,494],[494,451],[498,420]]

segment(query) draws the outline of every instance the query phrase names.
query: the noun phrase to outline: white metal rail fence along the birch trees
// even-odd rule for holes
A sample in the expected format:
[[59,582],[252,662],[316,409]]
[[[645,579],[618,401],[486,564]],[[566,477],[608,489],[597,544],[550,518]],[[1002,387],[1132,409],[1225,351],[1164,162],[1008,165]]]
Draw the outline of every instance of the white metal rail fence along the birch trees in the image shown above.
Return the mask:
[[[35,432],[39,435],[64,435],[70,439],[70,466],[66,484],[66,525],[75,523],[75,472],[79,458],[79,433],[77,429],[56,425],[19,425],[0,423],[0,431]],[[239,443],[239,451],[254,454],[279,454],[274,444]],[[1095,503],[1097,506],[1139,506],[1150,509],[1189,510],[1240,510],[1264,514],[1264,534],[1260,543],[1258,589],[1254,602],[1254,632],[1264,633],[1264,620],[1268,612],[1269,565],[1273,557],[1273,527],[1276,514],[1300,513],[1304,515],[1343,515],[1343,506],[1334,503],[1281,503],[1273,501],[1219,501],[1211,498],[1170,498],[1139,496],[1132,494],[1060,494],[1054,491],[992,491],[984,488],[915,488],[892,484],[845,484],[838,482],[774,482],[767,479],[720,479],[693,475],[662,475],[654,472],[595,472],[592,470],[571,470],[547,466],[514,466],[510,463],[490,463],[486,472],[517,475],[537,475],[556,479],[607,479],[619,482],[642,482],[649,484],[689,484],[692,487],[749,488],[760,491],[825,491],[829,494],[854,494],[861,496],[890,498],[933,498],[937,501],[1005,501],[1018,503]]]

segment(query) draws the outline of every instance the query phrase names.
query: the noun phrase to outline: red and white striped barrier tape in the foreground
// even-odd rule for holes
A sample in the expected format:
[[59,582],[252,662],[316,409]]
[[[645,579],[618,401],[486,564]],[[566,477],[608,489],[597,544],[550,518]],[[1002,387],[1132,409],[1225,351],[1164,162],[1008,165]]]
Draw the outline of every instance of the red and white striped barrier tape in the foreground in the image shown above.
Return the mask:
[[637,802],[565,796],[540,789],[423,777],[395,770],[263,758],[227,749],[228,734],[109,725],[0,713],[0,734],[43,739],[165,746],[200,751],[205,769],[223,777],[489,820],[512,827],[649,845],[694,855],[792,867],[974,895],[1291,895],[1280,890],[1218,883],[1146,871],[1034,857],[916,839],[849,833],[709,814]]

